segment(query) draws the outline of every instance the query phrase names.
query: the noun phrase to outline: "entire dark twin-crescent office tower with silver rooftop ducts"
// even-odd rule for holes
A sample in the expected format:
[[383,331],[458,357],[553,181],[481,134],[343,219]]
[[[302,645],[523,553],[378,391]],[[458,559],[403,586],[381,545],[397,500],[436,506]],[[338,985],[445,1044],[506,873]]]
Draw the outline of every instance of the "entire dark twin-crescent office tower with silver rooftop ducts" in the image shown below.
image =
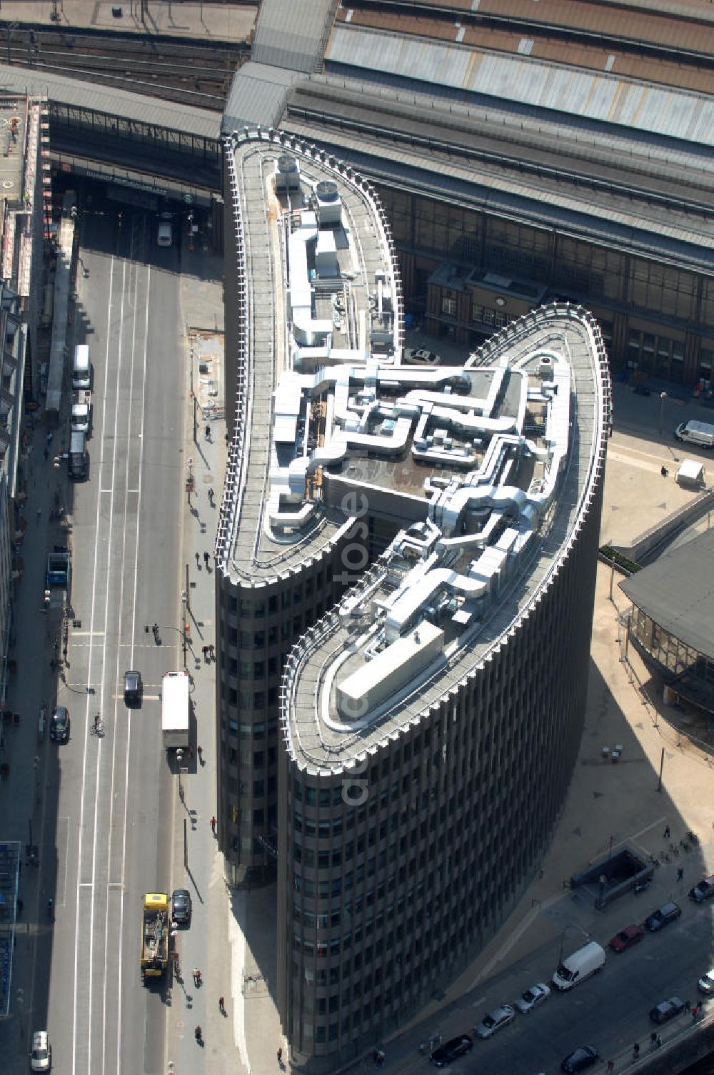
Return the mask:
[[369,186],[273,132],[225,156],[219,840],[231,884],[277,871],[281,1018],[326,1071],[467,965],[548,846],[610,384],[567,303],[463,363],[406,352]]

